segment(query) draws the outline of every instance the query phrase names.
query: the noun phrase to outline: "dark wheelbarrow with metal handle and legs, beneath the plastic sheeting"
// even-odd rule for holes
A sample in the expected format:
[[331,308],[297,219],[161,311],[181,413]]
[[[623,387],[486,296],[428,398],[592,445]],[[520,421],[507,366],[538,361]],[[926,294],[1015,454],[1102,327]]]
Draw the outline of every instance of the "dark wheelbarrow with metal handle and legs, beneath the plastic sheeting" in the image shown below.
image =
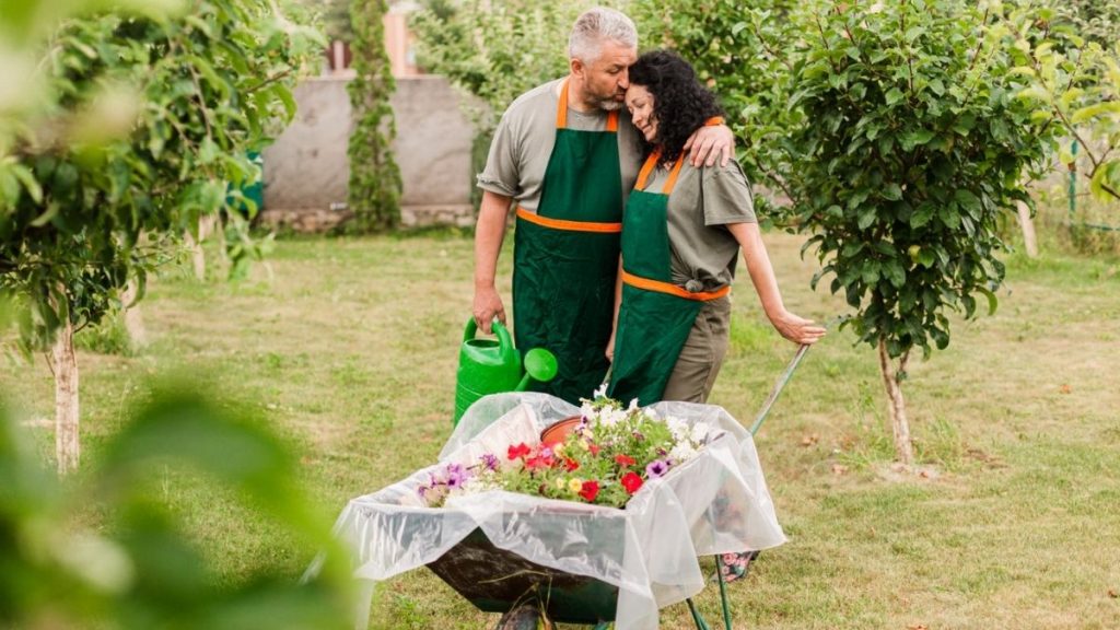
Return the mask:
[[[749,428],[752,435],[762,427],[808,350],[808,345],[800,346],[775,382]],[[600,543],[603,538],[616,537],[617,545],[622,544],[619,528],[600,530],[596,535]],[[606,546],[613,545],[608,540]],[[497,630],[535,630],[542,614],[553,622],[594,626],[595,630],[605,630],[616,617],[618,586],[533,563],[495,546],[480,529],[472,531],[427,566],[479,610],[503,613]],[[724,627],[730,630],[731,611],[719,555],[716,556],[716,567]],[[685,603],[697,629],[709,630],[710,626],[692,599],[687,599]]]

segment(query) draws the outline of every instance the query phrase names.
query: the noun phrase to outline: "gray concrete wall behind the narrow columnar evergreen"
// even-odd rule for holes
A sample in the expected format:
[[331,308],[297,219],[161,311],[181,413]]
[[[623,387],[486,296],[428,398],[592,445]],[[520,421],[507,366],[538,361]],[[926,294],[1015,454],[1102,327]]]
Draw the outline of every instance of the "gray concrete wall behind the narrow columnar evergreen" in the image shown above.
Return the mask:
[[[345,209],[353,127],[345,77],[316,77],[296,87],[296,120],[264,151],[262,220],[297,230],[328,229]],[[469,225],[474,131],[459,94],[440,76],[398,77],[391,104],[393,149],[401,167],[405,225]]]

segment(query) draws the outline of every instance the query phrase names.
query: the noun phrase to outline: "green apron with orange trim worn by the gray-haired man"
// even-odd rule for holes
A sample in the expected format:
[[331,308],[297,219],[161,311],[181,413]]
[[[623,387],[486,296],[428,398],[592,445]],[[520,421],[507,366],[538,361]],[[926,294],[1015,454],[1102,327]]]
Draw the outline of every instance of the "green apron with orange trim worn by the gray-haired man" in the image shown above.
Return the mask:
[[544,348],[559,371],[545,391],[575,405],[604,380],[622,231],[618,114],[607,131],[567,129],[568,83],[536,213],[517,209],[513,319],[521,352]]

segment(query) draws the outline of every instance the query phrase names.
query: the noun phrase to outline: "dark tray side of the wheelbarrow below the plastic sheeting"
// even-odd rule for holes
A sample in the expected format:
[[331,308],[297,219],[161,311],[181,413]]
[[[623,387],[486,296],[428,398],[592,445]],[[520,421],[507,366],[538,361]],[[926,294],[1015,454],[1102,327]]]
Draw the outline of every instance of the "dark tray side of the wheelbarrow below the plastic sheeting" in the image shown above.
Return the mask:
[[485,612],[507,612],[535,596],[556,622],[594,624],[615,619],[617,586],[529,562],[495,547],[480,529],[428,567]]

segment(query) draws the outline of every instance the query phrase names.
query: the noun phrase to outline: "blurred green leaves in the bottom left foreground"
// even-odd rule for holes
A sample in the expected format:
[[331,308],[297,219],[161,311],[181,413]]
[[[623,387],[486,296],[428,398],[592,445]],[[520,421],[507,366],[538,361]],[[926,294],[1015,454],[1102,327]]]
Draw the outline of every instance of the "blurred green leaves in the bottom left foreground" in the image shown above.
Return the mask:
[[[97,471],[67,489],[0,413],[0,627],[345,628],[348,576],[328,524],[309,508],[288,448],[251,418],[159,390],[106,445]],[[283,524],[309,553],[329,549],[307,584],[256,572],[220,586],[158,491],[153,470],[190,466]],[[69,491],[69,490],[73,490]],[[104,522],[88,525],[100,512]]]

